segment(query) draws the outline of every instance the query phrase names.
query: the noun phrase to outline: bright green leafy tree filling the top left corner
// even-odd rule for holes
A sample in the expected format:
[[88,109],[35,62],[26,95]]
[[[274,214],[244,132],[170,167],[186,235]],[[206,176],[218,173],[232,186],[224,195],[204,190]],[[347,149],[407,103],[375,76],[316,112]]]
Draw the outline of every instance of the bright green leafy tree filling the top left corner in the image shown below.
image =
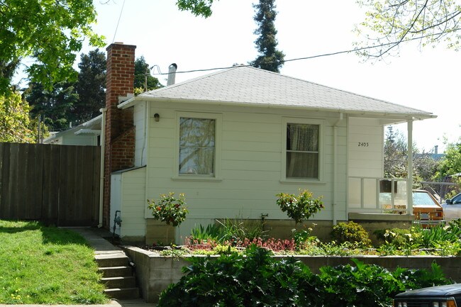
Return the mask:
[[0,94],[11,92],[14,72],[26,57],[32,82],[50,89],[77,74],[72,69],[75,52],[84,38],[103,46],[91,24],[96,21],[92,0],[0,0]]

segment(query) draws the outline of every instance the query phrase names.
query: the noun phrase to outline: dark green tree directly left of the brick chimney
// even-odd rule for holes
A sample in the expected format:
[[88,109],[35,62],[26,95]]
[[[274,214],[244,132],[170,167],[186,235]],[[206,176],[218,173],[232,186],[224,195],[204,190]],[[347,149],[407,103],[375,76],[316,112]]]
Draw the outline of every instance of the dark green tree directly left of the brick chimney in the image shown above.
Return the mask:
[[75,84],[78,99],[72,108],[72,121],[84,123],[99,116],[106,104],[106,53],[99,49],[80,55]]

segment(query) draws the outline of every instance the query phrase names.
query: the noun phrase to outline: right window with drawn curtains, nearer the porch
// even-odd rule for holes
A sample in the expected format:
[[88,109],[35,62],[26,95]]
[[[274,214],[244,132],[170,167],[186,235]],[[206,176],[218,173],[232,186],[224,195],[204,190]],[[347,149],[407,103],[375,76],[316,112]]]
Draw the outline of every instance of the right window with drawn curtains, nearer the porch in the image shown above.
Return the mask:
[[318,179],[319,125],[287,123],[287,178]]

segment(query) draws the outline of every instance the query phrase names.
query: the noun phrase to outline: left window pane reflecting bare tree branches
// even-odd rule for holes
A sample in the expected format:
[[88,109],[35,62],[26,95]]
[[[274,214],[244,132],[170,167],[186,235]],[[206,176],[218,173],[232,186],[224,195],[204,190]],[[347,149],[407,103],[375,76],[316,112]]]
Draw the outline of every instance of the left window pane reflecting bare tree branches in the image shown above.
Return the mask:
[[179,174],[214,175],[216,120],[179,118]]

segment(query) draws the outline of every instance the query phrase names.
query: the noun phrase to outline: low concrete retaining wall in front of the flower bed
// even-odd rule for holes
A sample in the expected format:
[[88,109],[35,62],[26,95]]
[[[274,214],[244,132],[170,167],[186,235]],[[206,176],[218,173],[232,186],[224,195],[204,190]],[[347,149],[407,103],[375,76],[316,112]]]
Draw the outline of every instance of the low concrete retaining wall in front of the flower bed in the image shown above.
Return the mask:
[[[149,252],[138,247],[125,247],[126,254],[136,264],[136,280],[140,287],[141,295],[148,303],[157,303],[159,294],[167,289],[171,283],[179,281],[182,274],[182,267],[189,265],[189,262],[182,258],[162,257],[156,252]],[[204,257],[204,256],[197,256]],[[274,256],[282,258],[284,256]],[[366,264],[377,264],[389,270],[396,267],[409,269],[431,269],[433,262],[442,267],[445,277],[461,282],[461,257],[323,257],[323,256],[296,256],[306,264],[313,273],[317,274],[320,267],[341,264],[353,264],[352,258],[359,259]]]

